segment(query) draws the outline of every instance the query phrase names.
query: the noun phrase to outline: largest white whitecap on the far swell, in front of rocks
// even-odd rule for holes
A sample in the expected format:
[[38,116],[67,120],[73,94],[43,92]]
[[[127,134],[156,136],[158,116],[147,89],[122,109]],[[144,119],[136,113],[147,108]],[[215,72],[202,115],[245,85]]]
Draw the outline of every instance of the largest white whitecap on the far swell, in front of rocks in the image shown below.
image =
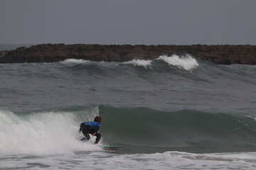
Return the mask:
[[178,55],[172,55],[170,57],[166,55],[160,55],[157,60],[163,60],[170,65],[174,65],[186,70],[195,69],[199,66],[198,62],[196,62],[196,59],[191,57],[191,55],[186,55],[183,57],[179,57]]

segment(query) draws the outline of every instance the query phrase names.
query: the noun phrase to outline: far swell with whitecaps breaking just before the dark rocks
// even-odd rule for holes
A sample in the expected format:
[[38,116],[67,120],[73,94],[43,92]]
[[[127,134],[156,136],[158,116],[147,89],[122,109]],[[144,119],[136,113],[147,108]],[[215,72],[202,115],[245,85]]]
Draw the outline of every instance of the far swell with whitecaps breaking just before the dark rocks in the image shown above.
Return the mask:
[[[221,84],[220,81],[241,81],[256,84],[255,67],[221,66],[190,55],[160,56],[155,60],[132,60],[129,62],[92,62],[88,60],[65,60],[53,64],[1,64],[3,77],[17,76],[29,79],[83,79],[84,77],[134,79],[171,79],[173,81],[202,81]],[[19,71],[21,70],[21,71]],[[6,75],[6,76],[5,76]],[[92,77],[92,78],[93,78]]]

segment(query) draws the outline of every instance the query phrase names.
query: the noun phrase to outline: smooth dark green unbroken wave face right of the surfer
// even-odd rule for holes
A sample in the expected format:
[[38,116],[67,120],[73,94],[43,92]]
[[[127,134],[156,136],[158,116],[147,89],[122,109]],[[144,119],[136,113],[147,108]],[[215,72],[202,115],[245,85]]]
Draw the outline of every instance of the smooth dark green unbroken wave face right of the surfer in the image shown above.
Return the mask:
[[105,140],[173,150],[256,150],[256,121],[245,115],[100,106]]

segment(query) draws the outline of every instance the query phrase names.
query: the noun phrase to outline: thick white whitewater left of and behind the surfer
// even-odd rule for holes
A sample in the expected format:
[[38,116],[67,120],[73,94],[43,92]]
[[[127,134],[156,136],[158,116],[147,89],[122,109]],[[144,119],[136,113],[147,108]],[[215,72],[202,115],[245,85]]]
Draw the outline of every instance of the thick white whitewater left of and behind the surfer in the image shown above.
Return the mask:
[[18,116],[0,111],[0,154],[63,154],[100,150],[80,142],[73,113]]

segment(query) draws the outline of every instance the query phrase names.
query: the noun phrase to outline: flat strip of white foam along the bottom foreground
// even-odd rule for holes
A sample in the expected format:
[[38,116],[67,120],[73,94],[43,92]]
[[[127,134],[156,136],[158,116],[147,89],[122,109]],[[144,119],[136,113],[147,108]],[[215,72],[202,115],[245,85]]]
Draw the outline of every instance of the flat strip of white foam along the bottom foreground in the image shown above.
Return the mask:
[[[63,154],[33,159],[13,157],[0,162],[1,169],[255,169],[255,152],[225,154],[190,154],[164,152],[155,154],[112,154],[90,152]],[[35,164],[36,163],[36,164]],[[35,166],[31,166],[35,165]],[[42,169],[42,168],[41,168]]]

